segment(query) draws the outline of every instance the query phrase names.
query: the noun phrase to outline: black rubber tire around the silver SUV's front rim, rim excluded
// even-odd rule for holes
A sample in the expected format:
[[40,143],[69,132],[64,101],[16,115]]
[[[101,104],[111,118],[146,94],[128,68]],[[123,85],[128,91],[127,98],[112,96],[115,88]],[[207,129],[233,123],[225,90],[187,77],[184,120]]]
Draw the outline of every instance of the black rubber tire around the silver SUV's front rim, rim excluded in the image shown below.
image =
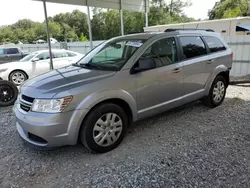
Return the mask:
[[[94,126],[101,117],[105,116],[108,113],[115,113],[119,116],[122,121],[122,131],[118,139],[109,146],[100,146],[94,140]],[[124,110],[113,103],[103,103],[96,106],[90,113],[87,115],[86,119],[83,121],[81,130],[80,130],[80,140],[82,144],[85,145],[90,151],[94,153],[105,153],[116,148],[123,140],[128,127],[128,117]],[[103,129],[104,130],[104,129]]]

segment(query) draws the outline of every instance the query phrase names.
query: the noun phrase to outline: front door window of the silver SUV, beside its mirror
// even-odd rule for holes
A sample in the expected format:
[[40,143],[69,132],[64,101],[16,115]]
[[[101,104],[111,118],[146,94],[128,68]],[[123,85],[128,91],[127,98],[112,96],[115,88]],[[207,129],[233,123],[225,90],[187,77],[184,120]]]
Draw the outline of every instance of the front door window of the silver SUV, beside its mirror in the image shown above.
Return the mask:
[[177,62],[177,46],[174,38],[161,39],[149,47],[142,58],[153,58],[156,67],[162,67]]

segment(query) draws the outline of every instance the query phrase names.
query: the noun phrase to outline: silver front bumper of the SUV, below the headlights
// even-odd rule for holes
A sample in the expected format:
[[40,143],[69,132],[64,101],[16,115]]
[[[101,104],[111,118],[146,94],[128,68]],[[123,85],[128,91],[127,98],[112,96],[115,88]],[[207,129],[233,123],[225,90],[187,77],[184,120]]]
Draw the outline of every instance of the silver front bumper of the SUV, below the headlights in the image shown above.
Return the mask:
[[23,140],[37,147],[75,145],[83,118],[88,110],[58,114],[25,112],[19,104],[13,107],[16,127]]

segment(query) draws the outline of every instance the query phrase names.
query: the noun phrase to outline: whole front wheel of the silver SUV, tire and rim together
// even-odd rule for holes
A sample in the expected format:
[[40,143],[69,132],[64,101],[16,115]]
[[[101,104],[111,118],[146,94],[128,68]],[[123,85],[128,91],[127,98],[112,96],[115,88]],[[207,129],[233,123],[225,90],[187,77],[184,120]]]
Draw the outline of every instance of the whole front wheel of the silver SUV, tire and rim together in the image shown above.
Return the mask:
[[123,140],[128,126],[124,110],[112,103],[95,107],[83,122],[80,139],[91,151],[105,153]]

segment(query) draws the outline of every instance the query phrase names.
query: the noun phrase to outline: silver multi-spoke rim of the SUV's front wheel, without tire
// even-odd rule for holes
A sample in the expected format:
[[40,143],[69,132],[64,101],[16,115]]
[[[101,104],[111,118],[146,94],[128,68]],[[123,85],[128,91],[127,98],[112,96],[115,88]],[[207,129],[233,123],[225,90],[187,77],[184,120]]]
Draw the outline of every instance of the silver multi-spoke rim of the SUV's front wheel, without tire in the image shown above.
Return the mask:
[[107,147],[114,144],[121,136],[123,123],[119,115],[108,113],[100,117],[93,129],[96,144]]

